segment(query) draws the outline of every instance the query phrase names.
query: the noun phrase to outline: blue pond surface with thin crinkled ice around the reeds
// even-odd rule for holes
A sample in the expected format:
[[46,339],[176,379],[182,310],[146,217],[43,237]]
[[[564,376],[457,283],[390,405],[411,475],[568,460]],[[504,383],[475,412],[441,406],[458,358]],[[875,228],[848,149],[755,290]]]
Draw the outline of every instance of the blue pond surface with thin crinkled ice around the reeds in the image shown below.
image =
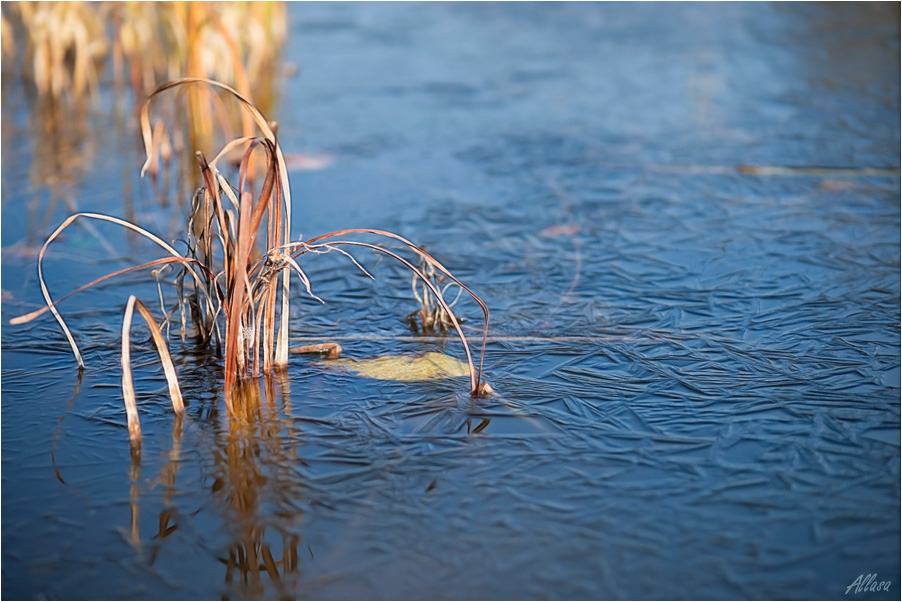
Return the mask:
[[[153,279],[63,306],[80,381],[52,320],[6,323],[66,215],[173,211],[109,87],[51,127],[6,79],[4,598],[899,598],[898,5],[289,14],[282,144],[331,157],[291,174],[297,235],[426,243],[492,310],[498,395],[293,358],[230,419],[174,335],[188,414],[136,344],[132,458],[118,331]],[[97,230],[51,254],[57,294],[155,256]],[[461,355],[360,259],[377,284],[305,264],[328,303],[297,340]],[[862,574],[889,592],[846,595]]]

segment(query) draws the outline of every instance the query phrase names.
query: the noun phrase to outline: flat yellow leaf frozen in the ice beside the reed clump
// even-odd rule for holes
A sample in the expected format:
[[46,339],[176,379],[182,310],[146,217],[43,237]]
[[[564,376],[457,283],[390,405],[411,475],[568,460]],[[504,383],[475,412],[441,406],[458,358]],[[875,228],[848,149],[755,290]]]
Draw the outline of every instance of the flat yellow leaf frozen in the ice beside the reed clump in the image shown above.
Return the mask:
[[437,380],[470,374],[470,369],[464,362],[436,352],[419,357],[386,355],[368,360],[338,359],[321,365],[341,366],[365,378],[402,382]]

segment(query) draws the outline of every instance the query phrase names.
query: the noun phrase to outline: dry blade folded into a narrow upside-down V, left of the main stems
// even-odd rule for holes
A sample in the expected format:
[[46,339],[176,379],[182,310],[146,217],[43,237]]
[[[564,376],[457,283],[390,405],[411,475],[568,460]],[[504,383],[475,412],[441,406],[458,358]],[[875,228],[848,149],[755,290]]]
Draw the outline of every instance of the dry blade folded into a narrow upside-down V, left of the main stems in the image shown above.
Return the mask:
[[182,401],[182,392],[179,389],[178,377],[175,373],[175,366],[172,364],[172,357],[166,348],[166,341],[163,339],[163,333],[154,321],[153,316],[147,310],[143,303],[137,297],[131,295],[128,298],[128,304],[125,306],[125,314],[122,318],[122,397],[125,401],[125,413],[128,418],[128,435],[132,443],[141,441],[141,423],[138,420],[138,406],[135,401],[135,385],[132,381],[131,369],[131,345],[130,333],[132,327],[132,315],[134,309],[138,309],[138,313],[147,322],[153,342],[157,347],[160,355],[160,363],[163,365],[163,372],[166,374],[166,381],[169,384],[169,397],[172,400],[172,410],[176,416],[185,413],[185,404]]

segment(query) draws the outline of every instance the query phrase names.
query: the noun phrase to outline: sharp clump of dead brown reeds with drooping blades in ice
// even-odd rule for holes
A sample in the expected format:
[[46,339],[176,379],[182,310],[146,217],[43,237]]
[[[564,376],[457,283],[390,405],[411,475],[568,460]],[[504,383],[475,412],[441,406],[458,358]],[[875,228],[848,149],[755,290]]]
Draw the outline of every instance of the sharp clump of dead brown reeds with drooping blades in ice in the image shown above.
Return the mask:
[[[200,342],[221,352],[224,357],[225,401],[231,412],[236,385],[261,374],[273,373],[288,363],[291,275],[294,274],[300,280],[308,295],[318,299],[298,260],[305,255],[334,251],[348,257],[369,275],[350,253],[351,249],[368,249],[395,259],[411,271],[415,281],[422,286],[422,289],[419,289],[419,285],[415,286],[415,290],[422,290],[420,299],[428,298],[430,307],[440,308],[441,323],[447,323],[449,328],[453,328],[464,345],[470,373],[470,393],[490,393],[491,389],[481,380],[481,355],[477,368],[460,322],[451,311],[450,304],[445,301],[443,292],[448,285],[455,284],[482,308],[486,328],[482,342],[483,352],[485,332],[488,329],[488,308],[431,255],[397,234],[373,229],[340,230],[306,241],[291,240],[291,192],[275,125],[267,122],[256,107],[233,88],[210,80],[183,78],[164,84],[154,91],[140,116],[147,153],[142,173],[155,169],[160,153],[164,150],[161,142],[165,139],[162,135],[164,128],[151,126],[150,104],[165,92],[184,86],[215,89],[236,99],[257,130],[255,135],[231,140],[212,159],[208,159],[201,151],[197,152],[197,168],[203,186],[194,195],[189,214],[187,251],[179,253],[158,236],[116,217],[96,213],[75,214],[50,235],[38,256],[38,278],[46,306],[15,318],[12,323],[22,324],[51,312],[62,327],[79,366],[83,367],[84,361],[78,345],[57,310],[58,303],[72,294],[116,276],[141,269],[159,270],[164,266],[175,266],[179,270],[175,278],[178,300],[164,319],[169,320],[177,312],[183,337],[190,321]],[[229,182],[220,170],[223,157],[234,151],[240,151],[241,155],[237,186]],[[256,185],[252,181],[253,159],[265,165],[262,182]],[[165,256],[102,276],[54,301],[44,281],[44,256],[48,246],[77,220],[100,220],[125,227],[163,249]],[[364,239],[361,240],[361,237]],[[366,237],[381,239],[399,246],[400,250],[370,242]],[[411,258],[403,256],[405,250],[412,255]],[[122,390],[129,433],[132,441],[137,442],[141,433],[129,366],[129,332],[135,309],[151,330],[169,382],[176,414],[183,412],[183,403],[175,367],[161,329],[144,304],[132,296],[126,305],[122,326]],[[328,349],[333,355],[336,353],[335,346],[326,345],[322,349]]]

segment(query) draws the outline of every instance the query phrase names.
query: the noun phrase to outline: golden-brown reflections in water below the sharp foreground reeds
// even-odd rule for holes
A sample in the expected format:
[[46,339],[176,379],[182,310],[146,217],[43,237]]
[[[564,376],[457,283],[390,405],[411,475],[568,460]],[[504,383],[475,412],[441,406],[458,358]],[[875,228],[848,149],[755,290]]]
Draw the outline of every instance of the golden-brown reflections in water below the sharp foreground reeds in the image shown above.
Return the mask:
[[[293,447],[286,445],[286,440],[298,437],[293,432],[293,423],[284,420],[278,408],[281,403],[284,413],[290,412],[288,386],[284,375],[267,376],[264,378],[264,399],[261,399],[256,381],[242,384],[234,397],[235,419],[229,421],[228,431],[214,436],[211,455],[215,468],[210,492],[231,539],[218,559],[225,566],[227,591],[242,597],[271,597],[267,595],[270,586],[279,597],[290,596],[294,590],[291,577],[299,568],[301,537],[297,531],[302,512],[297,506],[301,491],[295,480],[280,478],[280,473],[293,465]],[[280,402],[277,402],[277,388]],[[160,481],[164,486],[163,509],[150,546],[151,560],[165,553],[165,540],[179,530],[179,520],[183,516],[176,501],[182,430],[182,420],[177,419],[168,461],[160,470]],[[129,481],[129,539],[135,550],[143,554],[145,544],[139,527],[139,447],[132,448]],[[262,500],[279,505],[278,524],[265,516]],[[273,530],[277,532],[275,537]],[[267,531],[270,531],[269,535]]]

